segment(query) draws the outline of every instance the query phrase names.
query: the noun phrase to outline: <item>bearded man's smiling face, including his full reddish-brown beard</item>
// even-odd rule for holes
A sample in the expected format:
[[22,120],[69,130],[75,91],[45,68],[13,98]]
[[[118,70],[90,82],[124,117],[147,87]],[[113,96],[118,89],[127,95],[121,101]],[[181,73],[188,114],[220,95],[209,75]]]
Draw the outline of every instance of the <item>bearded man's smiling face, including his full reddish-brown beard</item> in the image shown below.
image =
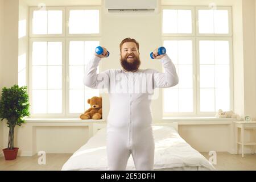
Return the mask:
[[137,71],[141,65],[139,51],[134,42],[123,43],[120,56],[121,65],[126,71]]

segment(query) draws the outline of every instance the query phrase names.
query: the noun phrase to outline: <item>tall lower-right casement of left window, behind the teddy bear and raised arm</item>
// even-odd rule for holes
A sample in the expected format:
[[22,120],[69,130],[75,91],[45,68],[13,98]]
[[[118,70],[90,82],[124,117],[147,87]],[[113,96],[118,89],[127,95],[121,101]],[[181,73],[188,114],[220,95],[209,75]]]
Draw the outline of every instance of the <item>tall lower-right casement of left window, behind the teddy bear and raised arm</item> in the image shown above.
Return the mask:
[[88,107],[87,99],[100,94],[99,90],[88,88],[82,81],[88,60],[98,45],[98,41],[69,41],[69,113],[84,112]]

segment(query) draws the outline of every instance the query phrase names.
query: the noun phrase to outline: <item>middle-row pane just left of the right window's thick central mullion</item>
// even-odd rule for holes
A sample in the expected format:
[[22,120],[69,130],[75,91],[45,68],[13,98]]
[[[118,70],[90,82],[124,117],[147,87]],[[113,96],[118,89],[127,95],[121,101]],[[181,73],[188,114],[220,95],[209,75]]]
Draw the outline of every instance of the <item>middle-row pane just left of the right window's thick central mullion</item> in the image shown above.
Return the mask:
[[193,87],[192,65],[179,65],[179,88]]

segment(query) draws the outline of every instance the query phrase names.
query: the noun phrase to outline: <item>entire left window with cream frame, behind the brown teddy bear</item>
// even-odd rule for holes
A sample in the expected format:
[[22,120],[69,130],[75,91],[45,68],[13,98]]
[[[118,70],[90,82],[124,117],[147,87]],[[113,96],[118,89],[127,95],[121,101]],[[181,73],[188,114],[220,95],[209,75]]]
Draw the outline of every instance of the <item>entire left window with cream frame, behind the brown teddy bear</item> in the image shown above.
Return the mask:
[[[89,19],[93,25],[84,26]],[[86,65],[100,45],[99,19],[97,7],[30,8],[31,117],[78,117],[87,99],[100,95],[83,84]]]

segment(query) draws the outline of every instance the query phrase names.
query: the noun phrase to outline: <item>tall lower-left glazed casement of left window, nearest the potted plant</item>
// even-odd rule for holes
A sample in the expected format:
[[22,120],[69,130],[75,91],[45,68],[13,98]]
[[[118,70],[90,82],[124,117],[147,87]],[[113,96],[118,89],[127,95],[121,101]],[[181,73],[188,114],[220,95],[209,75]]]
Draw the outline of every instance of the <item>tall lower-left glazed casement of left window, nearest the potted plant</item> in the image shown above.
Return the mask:
[[32,40],[31,50],[32,113],[62,113],[63,42]]

